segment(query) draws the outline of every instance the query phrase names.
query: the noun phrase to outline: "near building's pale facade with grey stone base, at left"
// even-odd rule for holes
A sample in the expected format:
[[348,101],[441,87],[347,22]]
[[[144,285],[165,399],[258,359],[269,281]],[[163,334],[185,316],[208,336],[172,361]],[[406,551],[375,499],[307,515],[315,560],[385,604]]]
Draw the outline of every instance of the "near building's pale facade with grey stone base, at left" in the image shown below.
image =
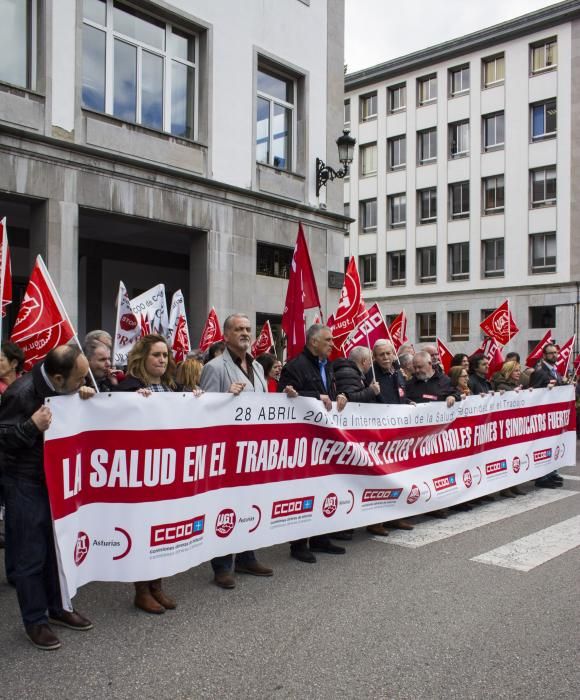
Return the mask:
[[343,0],[0,10],[10,320],[41,253],[81,334],[113,330],[119,280],[130,296],[181,288],[194,343],[210,306],[276,323],[299,221],[334,308],[342,188],[321,203],[315,161],[336,159],[342,130]]

